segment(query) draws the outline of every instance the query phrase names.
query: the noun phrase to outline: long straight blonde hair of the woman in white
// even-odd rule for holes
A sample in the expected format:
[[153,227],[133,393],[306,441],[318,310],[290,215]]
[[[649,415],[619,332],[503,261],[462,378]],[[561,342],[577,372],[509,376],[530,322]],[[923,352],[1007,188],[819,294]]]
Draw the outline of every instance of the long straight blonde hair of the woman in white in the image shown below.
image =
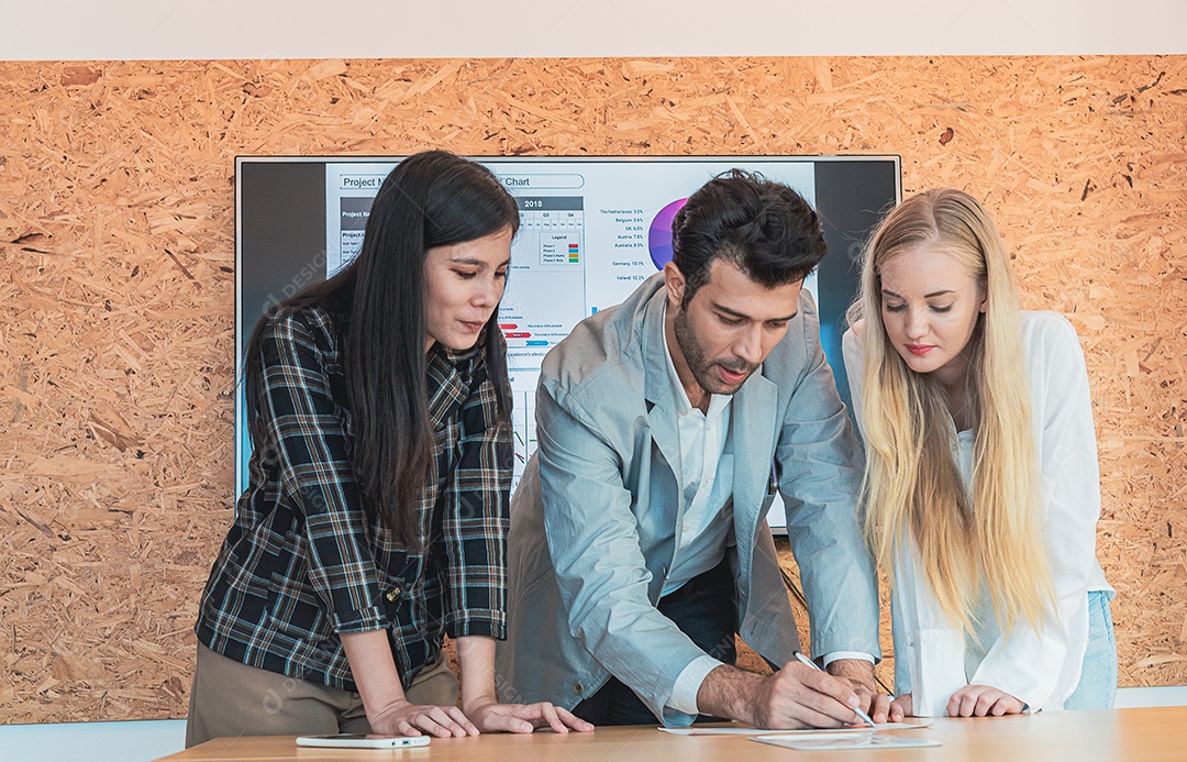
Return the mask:
[[[970,338],[969,399],[976,428],[972,504],[953,458],[952,417],[939,383],[910,370],[882,324],[882,266],[921,246],[939,245],[976,277],[986,311]],[[862,504],[865,536],[887,570],[914,540],[942,612],[976,636],[975,602],[984,577],[1002,629],[1020,615],[1040,627],[1054,607],[1042,542],[1042,491],[1021,312],[997,227],[972,196],[952,189],[916,193],[883,220],[862,267]],[[979,573],[979,574],[978,574]]]

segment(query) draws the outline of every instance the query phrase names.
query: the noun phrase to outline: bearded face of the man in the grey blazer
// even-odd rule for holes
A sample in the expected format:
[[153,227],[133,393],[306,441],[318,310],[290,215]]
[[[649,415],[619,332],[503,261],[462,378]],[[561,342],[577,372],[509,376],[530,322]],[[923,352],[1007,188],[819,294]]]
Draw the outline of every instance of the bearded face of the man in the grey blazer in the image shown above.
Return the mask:
[[709,280],[685,307],[684,275],[665,267],[668,310],[677,311],[674,332],[692,376],[710,394],[734,394],[787,334],[799,311],[796,281],[766,288],[737,265],[715,259]]

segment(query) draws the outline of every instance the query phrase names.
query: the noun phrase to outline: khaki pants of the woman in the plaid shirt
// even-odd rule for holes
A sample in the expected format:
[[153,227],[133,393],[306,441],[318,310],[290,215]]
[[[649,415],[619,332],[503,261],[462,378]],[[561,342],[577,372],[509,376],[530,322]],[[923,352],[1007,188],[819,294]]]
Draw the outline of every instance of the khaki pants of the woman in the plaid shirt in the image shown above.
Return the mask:
[[[456,706],[457,678],[444,652],[407,690],[413,704]],[[226,736],[370,732],[357,693],[242,665],[198,643],[186,748]]]

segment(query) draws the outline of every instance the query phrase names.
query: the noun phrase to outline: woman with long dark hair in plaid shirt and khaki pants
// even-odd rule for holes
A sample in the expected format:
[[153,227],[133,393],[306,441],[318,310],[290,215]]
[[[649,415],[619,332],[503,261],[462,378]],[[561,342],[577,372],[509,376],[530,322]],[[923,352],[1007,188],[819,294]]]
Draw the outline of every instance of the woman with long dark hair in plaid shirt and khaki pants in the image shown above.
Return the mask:
[[496,319],[518,227],[489,170],[417,154],[358,256],[255,326],[249,481],[202,597],[186,745],[592,729],[495,692],[512,476]]

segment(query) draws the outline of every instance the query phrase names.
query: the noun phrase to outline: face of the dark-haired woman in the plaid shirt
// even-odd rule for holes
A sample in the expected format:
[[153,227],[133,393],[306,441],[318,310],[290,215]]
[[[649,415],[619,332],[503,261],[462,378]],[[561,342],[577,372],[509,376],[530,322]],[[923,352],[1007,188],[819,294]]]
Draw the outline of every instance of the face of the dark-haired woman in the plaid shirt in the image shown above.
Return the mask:
[[512,261],[512,229],[425,253],[425,350],[470,349],[499,307]]

